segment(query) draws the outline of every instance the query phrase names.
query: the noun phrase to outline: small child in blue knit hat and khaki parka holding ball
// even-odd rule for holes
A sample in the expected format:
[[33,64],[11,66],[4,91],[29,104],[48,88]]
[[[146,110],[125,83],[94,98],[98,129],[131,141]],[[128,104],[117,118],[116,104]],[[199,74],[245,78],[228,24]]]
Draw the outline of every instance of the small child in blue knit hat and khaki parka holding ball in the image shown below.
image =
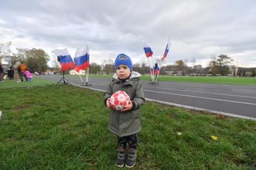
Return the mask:
[[[113,75],[108,91],[104,94],[104,102],[110,107],[110,97],[119,90],[125,91],[130,96],[130,101],[121,111],[110,110],[110,122],[108,130],[117,135],[117,159],[118,167],[133,168],[137,157],[137,133],[140,126],[139,108],[145,103],[142,85],[139,82],[140,73],[133,71],[131,58],[123,53],[117,55],[114,62],[116,73]],[[126,143],[130,150],[125,160]]]

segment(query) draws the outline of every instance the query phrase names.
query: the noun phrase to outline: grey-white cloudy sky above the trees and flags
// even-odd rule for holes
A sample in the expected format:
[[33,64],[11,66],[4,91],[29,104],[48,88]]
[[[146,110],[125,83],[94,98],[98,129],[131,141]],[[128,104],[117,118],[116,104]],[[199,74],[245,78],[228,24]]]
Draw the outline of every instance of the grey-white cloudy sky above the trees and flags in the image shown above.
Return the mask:
[[[44,49],[90,47],[90,62],[117,54],[146,61],[143,41],[164,62],[196,59],[204,67],[225,54],[240,67],[256,67],[256,1],[5,1],[0,5],[0,43]],[[51,64],[49,63],[51,66]],[[190,64],[189,64],[190,65]]]

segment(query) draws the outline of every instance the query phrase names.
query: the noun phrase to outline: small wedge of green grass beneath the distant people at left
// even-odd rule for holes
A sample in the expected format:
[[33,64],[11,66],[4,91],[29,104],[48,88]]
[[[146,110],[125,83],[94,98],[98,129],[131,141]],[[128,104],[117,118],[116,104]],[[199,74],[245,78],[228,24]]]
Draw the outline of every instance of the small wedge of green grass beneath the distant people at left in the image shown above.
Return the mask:
[[56,82],[51,80],[42,79],[40,77],[33,77],[31,82],[28,82],[23,77],[24,82],[16,82],[16,80],[5,79],[4,82],[0,82],[0,88],[14,88],[14,87],[34,87],[43,85],[52,85]]

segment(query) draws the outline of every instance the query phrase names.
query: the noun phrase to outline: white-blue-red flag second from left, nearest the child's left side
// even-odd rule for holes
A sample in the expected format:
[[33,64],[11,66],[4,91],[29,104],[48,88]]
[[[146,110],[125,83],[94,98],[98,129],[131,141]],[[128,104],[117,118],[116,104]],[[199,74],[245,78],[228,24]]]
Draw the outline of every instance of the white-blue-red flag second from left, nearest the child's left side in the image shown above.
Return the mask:
[[75,70],[85,70],[87,67],[89,67],[89,49],[83,48],[83,49],[77,49],[75,52]]

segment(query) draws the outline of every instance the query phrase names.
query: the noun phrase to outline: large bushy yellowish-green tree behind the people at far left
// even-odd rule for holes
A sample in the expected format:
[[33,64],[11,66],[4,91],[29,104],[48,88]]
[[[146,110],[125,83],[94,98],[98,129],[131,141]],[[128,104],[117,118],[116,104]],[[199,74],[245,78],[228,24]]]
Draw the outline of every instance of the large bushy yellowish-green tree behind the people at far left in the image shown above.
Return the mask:
[[42,49],[17,49],[19,59],[22,59],[31,71],[43,71],[48,68],[49,55]]

